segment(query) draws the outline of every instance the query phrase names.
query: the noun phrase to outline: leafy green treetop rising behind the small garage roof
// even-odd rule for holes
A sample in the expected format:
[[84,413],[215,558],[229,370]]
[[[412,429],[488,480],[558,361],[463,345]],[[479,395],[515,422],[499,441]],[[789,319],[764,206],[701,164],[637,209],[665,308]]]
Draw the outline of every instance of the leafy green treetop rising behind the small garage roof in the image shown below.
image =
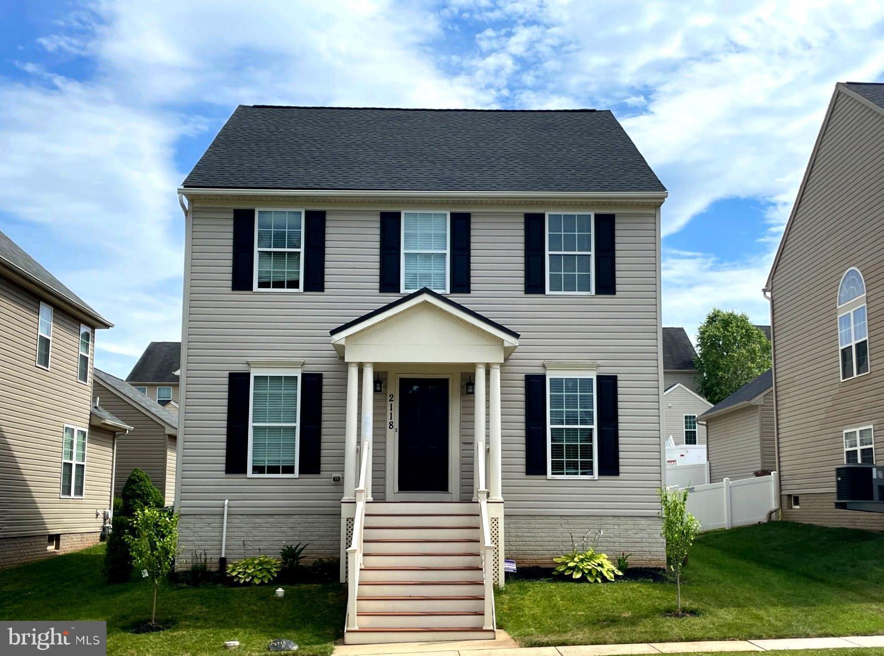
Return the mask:
[[771,368],[771,343],[743,313],[713,309],[697,332],[700,392],[710,403]]

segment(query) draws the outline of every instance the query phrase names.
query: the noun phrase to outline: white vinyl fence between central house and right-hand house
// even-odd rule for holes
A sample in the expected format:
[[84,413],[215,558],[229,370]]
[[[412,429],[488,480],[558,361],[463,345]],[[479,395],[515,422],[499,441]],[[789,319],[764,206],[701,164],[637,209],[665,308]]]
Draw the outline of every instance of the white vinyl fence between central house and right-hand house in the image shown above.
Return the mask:
[[770,476],[736,481],[725,478],[721,483],[693,485],[688,489],[688,512],[700,521],[700,530],[766,522],[767,515],[780,506],[780,477],[775,471]]

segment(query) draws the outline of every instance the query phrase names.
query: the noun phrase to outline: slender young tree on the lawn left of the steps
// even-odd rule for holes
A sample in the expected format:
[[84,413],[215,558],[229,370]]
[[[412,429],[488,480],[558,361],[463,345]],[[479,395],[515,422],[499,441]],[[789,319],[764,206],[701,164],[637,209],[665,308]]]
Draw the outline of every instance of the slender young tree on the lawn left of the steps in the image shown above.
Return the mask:
[[171,572],[178,553],[178,513],[164,508],[143,507],[135,513],[132,534],[126,536],[132,560],[141,576],[154,587],[150,623],[156,624],[156,591]]

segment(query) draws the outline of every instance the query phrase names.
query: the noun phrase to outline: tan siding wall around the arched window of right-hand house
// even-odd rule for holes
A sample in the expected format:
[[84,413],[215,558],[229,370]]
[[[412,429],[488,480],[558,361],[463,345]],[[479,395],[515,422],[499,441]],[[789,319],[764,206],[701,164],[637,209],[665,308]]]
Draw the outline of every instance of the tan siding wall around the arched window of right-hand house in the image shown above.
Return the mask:
[[[882,176],[884,117],[839,93],[773,271],[784,494],[834,492],[834,468],[844,461],[842,431],[873,424],[880,441],[884,430]],[[865,278],[870,373],[842,382],[836,305],[851,266]]]

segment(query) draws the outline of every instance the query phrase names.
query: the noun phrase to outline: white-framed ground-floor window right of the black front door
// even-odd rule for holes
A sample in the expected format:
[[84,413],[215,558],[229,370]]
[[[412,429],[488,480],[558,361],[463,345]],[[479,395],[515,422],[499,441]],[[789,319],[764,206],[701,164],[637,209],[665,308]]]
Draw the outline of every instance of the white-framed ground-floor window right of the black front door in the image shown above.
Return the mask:
[[548,476],[595,477],[595,373],[552,372],[546,385]]

